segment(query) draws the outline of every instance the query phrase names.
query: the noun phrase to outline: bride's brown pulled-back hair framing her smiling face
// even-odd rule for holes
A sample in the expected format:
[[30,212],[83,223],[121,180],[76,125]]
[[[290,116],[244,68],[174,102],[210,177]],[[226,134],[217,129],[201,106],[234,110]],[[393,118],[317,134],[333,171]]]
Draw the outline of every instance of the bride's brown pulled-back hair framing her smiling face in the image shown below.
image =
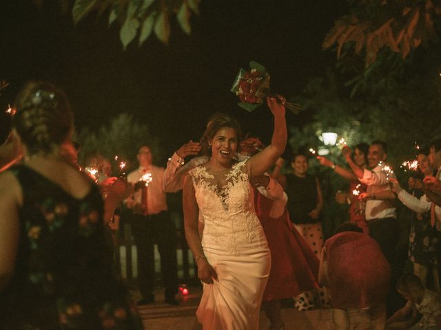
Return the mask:
[[209,141],[213,139],[214,135],[216,135],[220,129],[225,128],[234,129],[234,131],[236,131],[238,143],[240,142],[242,131],[240,130],[240,125],[237,120],[225,113],[215,113],[209,119],[207,129],[205,129],[205,132],[201,137],[201,153],[203,155],[212,154],[212,149],[209,147]]

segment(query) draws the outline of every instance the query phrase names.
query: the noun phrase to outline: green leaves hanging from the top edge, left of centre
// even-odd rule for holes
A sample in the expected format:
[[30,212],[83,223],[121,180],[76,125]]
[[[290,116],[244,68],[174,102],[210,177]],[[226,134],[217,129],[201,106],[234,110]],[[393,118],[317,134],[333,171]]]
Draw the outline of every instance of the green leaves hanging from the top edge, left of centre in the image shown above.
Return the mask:
[[176,15],[181,29],[192,32],[190,18],[198,14],[201,0],[75,0],[72,9],[74,23],[79,23],[90,12],[108,12],[109,25],[121,25],[119,36],[123,47],[127,47],[138,36],[142,45],[152,32],[164,44],[170,39],[171,22]]

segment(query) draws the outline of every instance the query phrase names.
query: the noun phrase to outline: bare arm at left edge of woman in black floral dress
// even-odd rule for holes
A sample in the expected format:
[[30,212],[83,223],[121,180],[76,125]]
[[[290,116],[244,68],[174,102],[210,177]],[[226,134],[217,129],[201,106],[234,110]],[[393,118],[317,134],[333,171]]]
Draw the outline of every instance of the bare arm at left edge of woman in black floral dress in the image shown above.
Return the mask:
[[[20,236],[19,207],[23,203],[21,186],[12,173],[0,175],[0,292],[8,285],[14,272]],[[28,229],[30,238],[37,237],[41,228]]]

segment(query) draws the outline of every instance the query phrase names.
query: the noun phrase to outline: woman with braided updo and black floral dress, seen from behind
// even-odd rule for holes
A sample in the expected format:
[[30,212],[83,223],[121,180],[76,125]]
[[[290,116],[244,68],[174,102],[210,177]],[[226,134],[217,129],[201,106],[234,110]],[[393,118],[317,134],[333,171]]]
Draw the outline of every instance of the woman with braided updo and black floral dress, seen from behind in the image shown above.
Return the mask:
[[112,271],[99,191],[60,155],[68,99],[31,82],[16,104],[24,157],[0,175],[0,329],[142,329]]

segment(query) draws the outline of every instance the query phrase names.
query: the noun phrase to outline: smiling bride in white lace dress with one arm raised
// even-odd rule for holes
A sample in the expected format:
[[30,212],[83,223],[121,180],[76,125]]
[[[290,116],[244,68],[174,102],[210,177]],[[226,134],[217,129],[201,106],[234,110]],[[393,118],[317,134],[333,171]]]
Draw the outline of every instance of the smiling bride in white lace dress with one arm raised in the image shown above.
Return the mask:
[[[198,265],[203,296],[196,311],[207,330],[257,330],[271,257],[256,216],[249,181],[267,171],[285,150],[285,99],[267,98],[274,115],[271,144],[236,162],[240,126],[214,115],[201,146],[209,160],[189,170],[183,184],[185,237]],[[202,238],[198,214],[205,221]]]

